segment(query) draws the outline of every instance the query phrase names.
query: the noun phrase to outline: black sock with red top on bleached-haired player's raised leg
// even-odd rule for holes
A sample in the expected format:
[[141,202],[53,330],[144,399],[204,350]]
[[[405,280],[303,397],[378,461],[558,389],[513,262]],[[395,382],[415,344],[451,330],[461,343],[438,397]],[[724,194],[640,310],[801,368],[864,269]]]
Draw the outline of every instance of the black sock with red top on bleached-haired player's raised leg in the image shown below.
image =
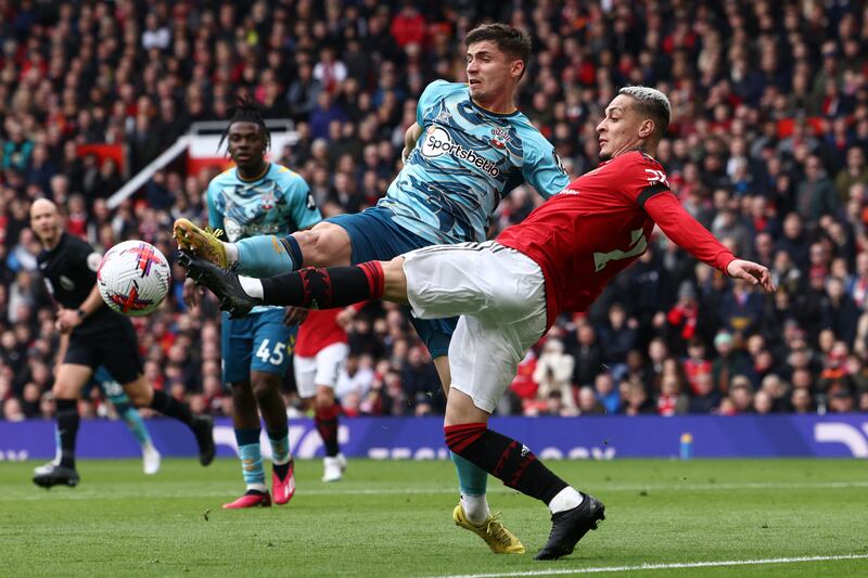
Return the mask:
[[379,299],[383,296],[384,285],[380,261],[352,267],[306,267],[263,279],[263,297],[266,305],[331,309],[366,299]]

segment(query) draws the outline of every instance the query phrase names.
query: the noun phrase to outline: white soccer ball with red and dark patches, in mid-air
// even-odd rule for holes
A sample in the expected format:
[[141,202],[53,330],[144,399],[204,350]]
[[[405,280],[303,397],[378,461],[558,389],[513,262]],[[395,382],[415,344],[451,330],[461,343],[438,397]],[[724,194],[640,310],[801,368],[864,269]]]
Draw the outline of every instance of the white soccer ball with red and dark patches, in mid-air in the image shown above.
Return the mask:
[[97,269],[105,305],[125,316],[150,314],[169,291],[169,261],[144,241],[125,241],[108,249]]

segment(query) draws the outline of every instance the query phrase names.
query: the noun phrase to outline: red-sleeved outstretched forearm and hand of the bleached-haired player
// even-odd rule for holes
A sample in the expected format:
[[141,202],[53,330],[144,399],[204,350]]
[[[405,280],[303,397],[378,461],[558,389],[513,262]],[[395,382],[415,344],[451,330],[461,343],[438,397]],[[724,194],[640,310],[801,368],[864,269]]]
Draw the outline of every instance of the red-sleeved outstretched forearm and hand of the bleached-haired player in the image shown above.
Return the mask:
[[758,284],[767,292],[775,291],[766,267],[753,261],[737,259],[715,236],[702,227],[669,191],[648,196],[644,210],[668,239],[688,251],[697,259],[724,271],[732,278]]

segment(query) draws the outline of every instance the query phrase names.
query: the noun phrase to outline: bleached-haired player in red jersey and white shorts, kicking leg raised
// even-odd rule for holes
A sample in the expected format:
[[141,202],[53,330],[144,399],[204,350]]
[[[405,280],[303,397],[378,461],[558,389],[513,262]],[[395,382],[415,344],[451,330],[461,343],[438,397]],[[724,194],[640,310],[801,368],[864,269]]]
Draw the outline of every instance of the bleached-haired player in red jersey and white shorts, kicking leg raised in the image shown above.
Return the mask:
[[597,528],[604,506],[558,477],[520,441],[488,429],[488,418],[527,349],[561,311],[586,310],[644,253],[655,223],[698,259],[775,291],[768,269],[737,259],[669,190],[653,155],[671,114],[660,91],[621,89],[597,126],[603,163],[495,241],[426,247],[388,262],[308,268],[267,280],[239,278],[189,255],[181,262],[235,314],[259,303],[326,308],[368,298],[408,303],[422,318],[461,314],[449,349],[446,444],[549,506],[551,532],[536,558],[558,558]]

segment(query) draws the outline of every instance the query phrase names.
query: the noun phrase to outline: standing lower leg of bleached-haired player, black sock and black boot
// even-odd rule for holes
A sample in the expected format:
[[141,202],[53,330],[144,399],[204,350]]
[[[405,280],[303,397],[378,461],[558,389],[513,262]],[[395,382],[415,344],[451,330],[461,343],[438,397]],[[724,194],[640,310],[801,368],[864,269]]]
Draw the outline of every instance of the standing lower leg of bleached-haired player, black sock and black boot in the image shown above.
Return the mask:
[[[452,396],[465,394],[451,390]],[[452,400],[450,399],[450,402]],[[551,532],[536,560],[557,560],[605,518],[603,504],[556,476],[521,442],[488,429],[485,423],[444,427],[449,449],[475,463],[506,486],[545,502],[551,511]]]

